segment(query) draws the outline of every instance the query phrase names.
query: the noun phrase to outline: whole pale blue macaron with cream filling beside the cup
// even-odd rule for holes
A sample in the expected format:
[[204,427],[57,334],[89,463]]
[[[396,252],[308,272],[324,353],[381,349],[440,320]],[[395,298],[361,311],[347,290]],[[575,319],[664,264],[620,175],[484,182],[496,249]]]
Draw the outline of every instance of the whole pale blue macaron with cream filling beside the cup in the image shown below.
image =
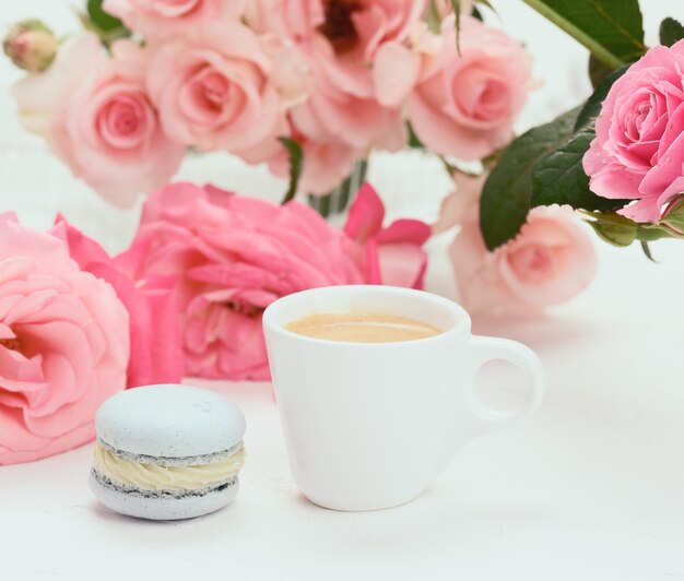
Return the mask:
[[189,519],[237,494],[245,417],[216,393],[175,384],[123,391],[99,407],[95,428],[91,488],[117,512]]

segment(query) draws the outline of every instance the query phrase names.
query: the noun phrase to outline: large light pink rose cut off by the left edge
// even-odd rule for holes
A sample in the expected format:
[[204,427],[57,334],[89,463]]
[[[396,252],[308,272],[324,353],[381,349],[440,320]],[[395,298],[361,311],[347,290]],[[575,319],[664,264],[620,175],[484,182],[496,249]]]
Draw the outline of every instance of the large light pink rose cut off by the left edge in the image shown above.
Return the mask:
[[0,215],[0,464],[70,450],[126,387],[128,312],[59,238]]

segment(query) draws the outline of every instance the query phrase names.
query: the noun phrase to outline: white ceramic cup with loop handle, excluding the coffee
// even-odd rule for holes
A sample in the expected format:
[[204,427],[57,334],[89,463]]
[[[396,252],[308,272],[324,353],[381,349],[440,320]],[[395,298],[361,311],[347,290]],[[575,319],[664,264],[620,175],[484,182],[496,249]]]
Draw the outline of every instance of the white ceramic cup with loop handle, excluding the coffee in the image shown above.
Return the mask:
[[[444,333],[397,343],[298,335],[292,321],[372,310],[424,321]],[[539,357],[515,341],[473,336],[457,304],[391,286],[331,286],[283,297],[263,313],[269,361],[294,479],[337,510],[402,505],[424,491],[469,439],[532,414],[544,394]],[[530,381],[512,411],[474,391],[483,364],[505,359]]]

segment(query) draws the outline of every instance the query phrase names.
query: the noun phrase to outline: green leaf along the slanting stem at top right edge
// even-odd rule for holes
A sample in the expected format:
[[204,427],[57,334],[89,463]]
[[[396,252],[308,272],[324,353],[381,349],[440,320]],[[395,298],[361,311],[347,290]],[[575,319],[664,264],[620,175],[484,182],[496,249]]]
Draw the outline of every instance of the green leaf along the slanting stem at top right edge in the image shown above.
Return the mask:
[[611,69],[644,52],[638,0],[524,0],[540,14],[585,45]]

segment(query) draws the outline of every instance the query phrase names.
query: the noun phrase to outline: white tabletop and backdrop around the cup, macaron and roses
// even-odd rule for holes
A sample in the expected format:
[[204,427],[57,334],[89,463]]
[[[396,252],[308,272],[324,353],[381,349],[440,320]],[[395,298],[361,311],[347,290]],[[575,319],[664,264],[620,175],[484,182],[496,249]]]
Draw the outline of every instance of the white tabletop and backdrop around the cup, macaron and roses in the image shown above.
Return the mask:
[[[649,0],[652,32],[673,0]],[[0,26],[42,15],[75,26],[62,0],[3,2]],[[575,105],[588,91],[586,54],[519,0],[495,1],[536,59],[545,86],[521,127]],[[676,13],[679,11],[679,14]],[[652,39],[652,35],[651,35]],[[57,210],[110,249],[123,248],[137,211],[101,202],[39,141],[22,133],[5,94],[16,72],[0,61],[0,210],[47,225]],[[184,177],[278,197],[282,185],[223,157],[189,161]],[[434,217],[448,185],[438,166],[380,158],[373,181],[392,214]],[[431,246],[428,286],[452,295],[444,248]],[[244,410],[249,459],[236,502],[181,523],[126,519],[99,507],[86,476],[90,447],[0,467],[0,579],[462,579],[672,581],[684,579],[684,247],[599,247],[593,286],[547,317],[475,321],[475,331],[524,341],[544,360],[540,414],[480,438],[414,502],[337,513],[304,500],[290,478],[266,384],[213,384]],[[499,400],[516,382],[490,369]],[[511,394],[512,392],[512,394]]]

